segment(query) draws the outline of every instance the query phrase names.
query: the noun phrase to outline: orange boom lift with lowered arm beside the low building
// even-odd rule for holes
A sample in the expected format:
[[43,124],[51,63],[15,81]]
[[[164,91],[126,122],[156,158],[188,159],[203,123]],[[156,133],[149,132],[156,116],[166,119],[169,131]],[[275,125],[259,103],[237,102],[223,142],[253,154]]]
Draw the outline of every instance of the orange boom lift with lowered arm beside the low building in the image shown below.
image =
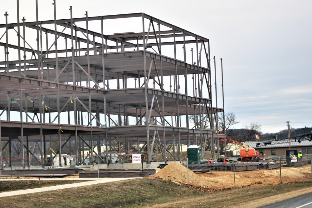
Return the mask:
[[240,156],[239,158],[237,158],[237,161],[241,161],[241,162],[260,162],[260,157],[259,157],[259,153],[258,151],[256,151],[254,148],[249,148],[247,145],[237,142],[235,140],[229,139],[229,138],[221,138],[219,139],[219,142],[224,142],[224,141],[228,141],[231,142],[233,144],[239,145],[241,147],[243,147],[240,150]]

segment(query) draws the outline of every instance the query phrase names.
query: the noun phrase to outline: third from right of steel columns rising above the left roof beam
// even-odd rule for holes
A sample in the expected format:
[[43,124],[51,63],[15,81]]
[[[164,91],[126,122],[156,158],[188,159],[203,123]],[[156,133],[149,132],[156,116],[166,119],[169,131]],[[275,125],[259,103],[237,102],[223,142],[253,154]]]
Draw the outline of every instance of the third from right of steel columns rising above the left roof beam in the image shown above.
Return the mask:
[[56,31],[56,3],[55,0],[53,1],[53,5],[54,5],[54,38],[55,38],[55,71],[56,71],[56,82],[57,82],[57,87],[56,87],[56,94],[57,94],[57,98],[56,98],[56,102],[57,102],[57,113],[59,114],[57,116],[57,124],[59,125],[59,130],[58,130],[58,138],[59,138],[59,164],[60,166],[62,166],[62,157],[61,157],[61,126],[60,126],[60,91],[59,91],[59,78],[58,78],[58,74],[59,74],[59,68],[58,68],[58,54],[57,54],[57,31]]

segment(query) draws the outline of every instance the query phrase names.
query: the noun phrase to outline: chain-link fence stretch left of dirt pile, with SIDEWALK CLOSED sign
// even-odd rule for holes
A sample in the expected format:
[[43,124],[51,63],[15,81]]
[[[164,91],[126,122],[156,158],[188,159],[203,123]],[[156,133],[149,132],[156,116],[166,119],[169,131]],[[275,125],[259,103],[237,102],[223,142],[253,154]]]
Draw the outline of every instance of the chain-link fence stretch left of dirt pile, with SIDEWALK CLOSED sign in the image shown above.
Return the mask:
[[[140,155],[141,163],[132,163],[133,154]],[[40,154],[22,157],[3,151],[0,177],[144,177],[164,167],[169,159],[159,153],[152,155],[150,163],[147,161],[147,152],[142,151],[131,154],[111,151],[92,156],[86,152],[78,157],[50,154],[43,158]]]

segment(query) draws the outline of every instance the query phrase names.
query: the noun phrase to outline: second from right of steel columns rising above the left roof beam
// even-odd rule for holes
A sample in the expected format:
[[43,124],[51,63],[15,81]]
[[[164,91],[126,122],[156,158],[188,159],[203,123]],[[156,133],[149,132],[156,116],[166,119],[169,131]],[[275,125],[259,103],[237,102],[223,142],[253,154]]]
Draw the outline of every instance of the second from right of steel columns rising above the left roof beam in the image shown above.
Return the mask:
[[[73,10],[70,6],[71,11],[71,70],[73,76],[73,85],[76,86],[76,73],[75,73],[75,51],[74,51],[74,28],[73,28]],[[75,124],[75,144],[76,144],[76,157],[78,157],[78,135],[77,135],[77,109],[76,109],[76,87],[73,90],[73,104],[74,104],[74,124]],[[79,113],[78,113],[79,115]],[[77,162],[79,165],[79,162]]]

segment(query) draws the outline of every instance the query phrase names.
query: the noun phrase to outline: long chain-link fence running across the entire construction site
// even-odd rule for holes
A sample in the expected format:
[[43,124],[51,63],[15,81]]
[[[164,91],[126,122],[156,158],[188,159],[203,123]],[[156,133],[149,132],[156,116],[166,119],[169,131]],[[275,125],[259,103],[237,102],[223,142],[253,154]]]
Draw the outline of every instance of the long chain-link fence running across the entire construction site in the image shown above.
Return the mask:
[[[141,163],[133,163],[132,155],[140,154]],[[168,154],[167,154],[168,155]],[[302,158],[286,156],[266,156],[261,162],[237,162],[237,158],[188,160],[187,156],[164,156],[162,153],[153,154],[151,162],[147,162],[147,152],[104,152],[101,154],[41,155],[29,154],[22,157],[2,153],[0,177],[145,177],[154,174],[170,162],[178,162],[195,173],[227,172],[231,173],[227,181],[234,187],[243,186],[247,177],[256,176],[259,180],[274,181],[274,183],[311,182],[311,154]],[[294,162],[295,161],[295,162]],[[224,163],[225,162],[225,163]],[[273,183],[273,182],[272,182]]]

